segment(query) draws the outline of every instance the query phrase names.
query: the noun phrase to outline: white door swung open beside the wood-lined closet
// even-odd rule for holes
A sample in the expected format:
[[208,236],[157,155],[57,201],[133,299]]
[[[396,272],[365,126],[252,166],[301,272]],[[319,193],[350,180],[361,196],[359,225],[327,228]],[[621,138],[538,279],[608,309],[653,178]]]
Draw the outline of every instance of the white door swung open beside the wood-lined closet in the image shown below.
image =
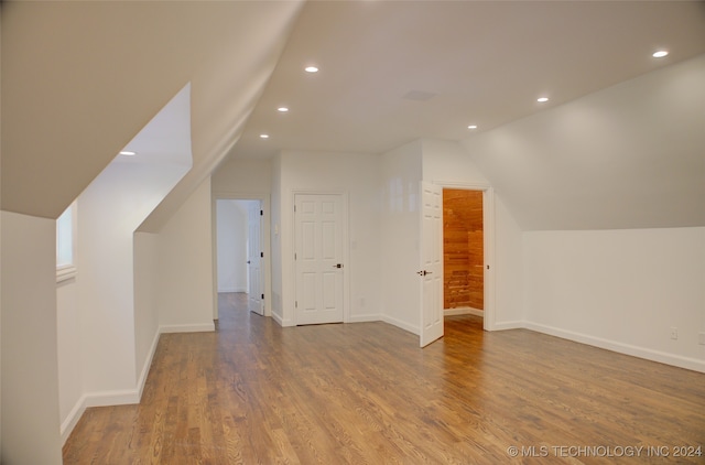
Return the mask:
[[443,188],[421,182],[421,337],[443,337]]

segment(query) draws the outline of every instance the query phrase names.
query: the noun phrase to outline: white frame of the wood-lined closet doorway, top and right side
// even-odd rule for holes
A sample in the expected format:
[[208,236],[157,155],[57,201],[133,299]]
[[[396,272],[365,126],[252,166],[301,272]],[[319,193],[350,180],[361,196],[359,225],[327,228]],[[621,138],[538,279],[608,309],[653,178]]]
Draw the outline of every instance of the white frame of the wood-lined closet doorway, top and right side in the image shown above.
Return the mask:
[[[497,329],[497,314],[495,311],[495,190],[489,184],[465,184],[447,181],[435,181],[434,184],[441,186],[441,188],[482,192],[482,248],[485,256],[485,309],[482,316],[482,328],[485,331],[495,331]],[[443,240],[443,238],[441,240]]]

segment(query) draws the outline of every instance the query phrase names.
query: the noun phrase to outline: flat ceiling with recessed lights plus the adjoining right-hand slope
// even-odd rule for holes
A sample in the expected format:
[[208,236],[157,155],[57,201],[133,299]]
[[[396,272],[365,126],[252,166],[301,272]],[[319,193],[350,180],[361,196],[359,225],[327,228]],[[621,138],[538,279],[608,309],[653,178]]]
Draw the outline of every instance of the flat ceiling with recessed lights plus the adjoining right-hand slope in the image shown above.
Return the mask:
[[705,225],[704,53],[703,1],[308,2],[230,156],[460,141],[523,229]]

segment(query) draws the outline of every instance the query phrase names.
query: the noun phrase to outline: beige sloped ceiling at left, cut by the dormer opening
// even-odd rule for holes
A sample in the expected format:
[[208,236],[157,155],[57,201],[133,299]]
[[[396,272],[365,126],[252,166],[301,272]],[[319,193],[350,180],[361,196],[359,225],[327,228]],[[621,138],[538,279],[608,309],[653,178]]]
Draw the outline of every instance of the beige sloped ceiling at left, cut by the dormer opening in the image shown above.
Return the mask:
[[191,83],[194,169],[158,229],[239,137],[301,6],[4,2],[2,209],[57,217]]

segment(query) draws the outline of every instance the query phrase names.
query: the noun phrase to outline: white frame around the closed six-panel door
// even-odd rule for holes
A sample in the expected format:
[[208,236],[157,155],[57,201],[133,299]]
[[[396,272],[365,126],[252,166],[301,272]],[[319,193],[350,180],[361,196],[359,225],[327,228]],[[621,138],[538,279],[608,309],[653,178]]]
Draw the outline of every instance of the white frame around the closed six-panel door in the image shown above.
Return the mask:
[[[340,215],[340,229],[341,229],[341,240],[343,240],[343,266],[344,266],[344,271],[343,271],[343,323],[349,323],[350,322],[350,270],[351,270],[351,266],[350,266],[350,244],[349,244],[349,221],[348,221],[348,215],[349,215],[349,194],[347,191],[315,191],[315,190],[292,190],[291,191],[291,209],[290,212],[292,213],[291,216],[291,228],[292,228],[292,233],[294,233],[295,230],[295,221],[296,218],[294,216],[294,206],[296,205],[296,195],[299,194],[306,194],[306,195],[339,195],[340,196],[340,204],[343,206],[343,212]],[[293,290],[293,295],[294,299],[292,300],[295,301],[296,299],[296,293],[299,292],[299,290],[296,289],[296,261],[294,260],[294,256],[293,253],[296,251],[296,237],[295,234],[291,235],[291,250],[292,250],[292,257],[291,257],[291,275],[293,277],[293,283],[292,283],[292,290]],[[292,315],[292,322],[293,325],[296,326],[296,312],[293,312]]]

